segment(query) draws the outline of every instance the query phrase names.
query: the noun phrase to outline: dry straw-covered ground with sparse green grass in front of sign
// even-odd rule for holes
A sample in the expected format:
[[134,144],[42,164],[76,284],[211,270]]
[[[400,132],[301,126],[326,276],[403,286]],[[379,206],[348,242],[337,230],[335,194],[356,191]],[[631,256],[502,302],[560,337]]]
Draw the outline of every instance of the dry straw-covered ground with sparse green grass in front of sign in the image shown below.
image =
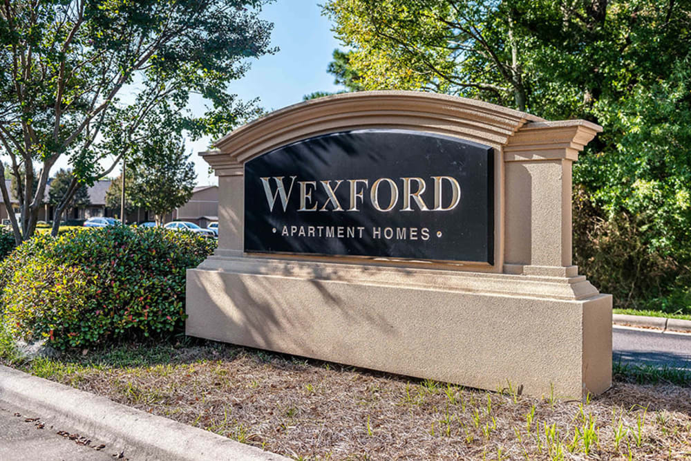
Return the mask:
[[417,380],[211,341],[1,359],[294,459],[685,459],[691,374],[615,364],[587,403]]

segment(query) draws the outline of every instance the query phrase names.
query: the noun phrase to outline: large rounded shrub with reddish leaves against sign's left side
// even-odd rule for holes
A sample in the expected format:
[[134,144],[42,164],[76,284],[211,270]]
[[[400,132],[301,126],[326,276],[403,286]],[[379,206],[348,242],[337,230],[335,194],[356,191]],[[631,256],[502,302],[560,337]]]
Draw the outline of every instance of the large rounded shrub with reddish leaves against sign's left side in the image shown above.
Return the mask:
[[2,321],[59,349],[182,330],[185,270],[216,243],[187,232],[106,227],[41,235],[0,265]]

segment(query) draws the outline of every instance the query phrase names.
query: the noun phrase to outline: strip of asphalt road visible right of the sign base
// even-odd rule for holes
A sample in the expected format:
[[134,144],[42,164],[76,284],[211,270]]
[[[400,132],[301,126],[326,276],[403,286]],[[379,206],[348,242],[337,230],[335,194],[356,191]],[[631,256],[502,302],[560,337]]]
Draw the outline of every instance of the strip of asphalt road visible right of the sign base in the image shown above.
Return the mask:
[[612,362],[691,370],[691,335],[612,328]]

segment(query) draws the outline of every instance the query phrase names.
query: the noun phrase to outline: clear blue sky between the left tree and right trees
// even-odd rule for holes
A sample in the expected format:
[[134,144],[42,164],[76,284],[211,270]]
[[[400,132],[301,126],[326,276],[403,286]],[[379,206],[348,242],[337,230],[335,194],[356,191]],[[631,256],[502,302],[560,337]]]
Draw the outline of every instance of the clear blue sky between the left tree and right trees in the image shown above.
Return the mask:
[[[321,1],[320,1],[321,3]],[[278,0],[265,6],[262,19],[274,23],[272,46],[281,48],[275,55],[252,60],[252,68],[230,89],[240,100],[260,98],[267,110],[281,109],[300,102],[304,95],[314,91],[338,91],[334,77],[326,73],[334,48],[339,42],[331,32],[330,21],[321,16],[321,8],[311,0]],[[198,106],[200,112],[203,107]],[[208,165],[197,153],[207,150],[210,138],[189,142],[193,149],[199,185],[217,184],[217,178],[208,173]]]

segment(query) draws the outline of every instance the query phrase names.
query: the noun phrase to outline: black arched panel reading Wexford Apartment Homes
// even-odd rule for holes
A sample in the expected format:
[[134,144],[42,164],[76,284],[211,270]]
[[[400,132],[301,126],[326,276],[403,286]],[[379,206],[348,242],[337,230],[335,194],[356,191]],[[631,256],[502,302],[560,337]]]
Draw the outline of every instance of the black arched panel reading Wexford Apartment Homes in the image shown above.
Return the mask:
[[493,150],[394,129],[332,133],[245,164],[245,251],[493,264]]

